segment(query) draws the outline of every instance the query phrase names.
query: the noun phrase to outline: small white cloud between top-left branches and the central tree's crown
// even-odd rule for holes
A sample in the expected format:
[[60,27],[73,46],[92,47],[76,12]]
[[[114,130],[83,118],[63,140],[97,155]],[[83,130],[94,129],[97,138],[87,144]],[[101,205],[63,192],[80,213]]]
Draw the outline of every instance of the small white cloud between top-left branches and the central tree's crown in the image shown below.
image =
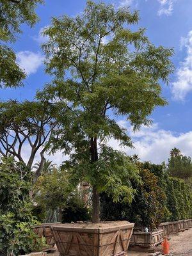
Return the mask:
[[28,76],[34,74],[36,70],[42,65],[44,57],[40,52],[35,53],[31,51],[20,51],[17,52],[17,63],[24,69]]

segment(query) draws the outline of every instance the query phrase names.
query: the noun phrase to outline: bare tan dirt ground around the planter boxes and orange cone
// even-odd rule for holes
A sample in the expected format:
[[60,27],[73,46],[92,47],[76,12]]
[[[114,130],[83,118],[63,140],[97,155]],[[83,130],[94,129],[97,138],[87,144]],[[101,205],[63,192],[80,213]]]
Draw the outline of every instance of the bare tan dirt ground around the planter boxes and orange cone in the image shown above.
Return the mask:
[[[192,228],[180,232],[179,234],[170,235],[170,255],[177,256],[192,256]],[[161,252],[162,245],[157,246],[157,250]],[[129,251],[128,256],[148,256],[152,253],[148,252],[133,252]],[[58,251],[54,253],[47,253],[47,256],[59,256]]]

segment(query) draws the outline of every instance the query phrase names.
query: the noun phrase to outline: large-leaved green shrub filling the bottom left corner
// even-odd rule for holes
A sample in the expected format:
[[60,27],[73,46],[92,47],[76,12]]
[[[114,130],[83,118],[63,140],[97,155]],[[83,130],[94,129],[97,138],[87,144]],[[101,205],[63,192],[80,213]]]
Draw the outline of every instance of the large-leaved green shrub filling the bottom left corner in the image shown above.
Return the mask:
[[29,198],[31,174],[22,163],[4,157],[0,163],[0,254],[19,255],[40,250],[33,232],[35,220]]

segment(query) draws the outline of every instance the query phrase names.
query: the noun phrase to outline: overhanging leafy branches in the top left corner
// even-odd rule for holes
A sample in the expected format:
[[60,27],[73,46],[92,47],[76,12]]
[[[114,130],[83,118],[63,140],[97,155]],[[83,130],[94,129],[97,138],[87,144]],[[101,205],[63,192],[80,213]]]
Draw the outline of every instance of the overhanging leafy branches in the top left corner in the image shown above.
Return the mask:
[[38,17],[35,8],[43,0],[26,1],[0,0],[0,88],[22,85],[26,77],[16,61],[15,52],[2,42],[15,42],[17,35],[22,33],[20,25],[35,25]]

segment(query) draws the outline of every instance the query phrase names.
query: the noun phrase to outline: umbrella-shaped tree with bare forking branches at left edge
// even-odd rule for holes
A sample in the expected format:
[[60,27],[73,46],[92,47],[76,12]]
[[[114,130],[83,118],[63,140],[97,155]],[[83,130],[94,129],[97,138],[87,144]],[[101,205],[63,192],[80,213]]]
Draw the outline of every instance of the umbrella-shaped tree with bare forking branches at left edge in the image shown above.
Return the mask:
[[0,155],[11,154],[31,169],[39,152],[41,159],[34,173],[36,181],[44,168],[44,153],[51,132],[56,128],[53,118],[56,108],[43,102],[13,100],[1,103],[0,107]]

